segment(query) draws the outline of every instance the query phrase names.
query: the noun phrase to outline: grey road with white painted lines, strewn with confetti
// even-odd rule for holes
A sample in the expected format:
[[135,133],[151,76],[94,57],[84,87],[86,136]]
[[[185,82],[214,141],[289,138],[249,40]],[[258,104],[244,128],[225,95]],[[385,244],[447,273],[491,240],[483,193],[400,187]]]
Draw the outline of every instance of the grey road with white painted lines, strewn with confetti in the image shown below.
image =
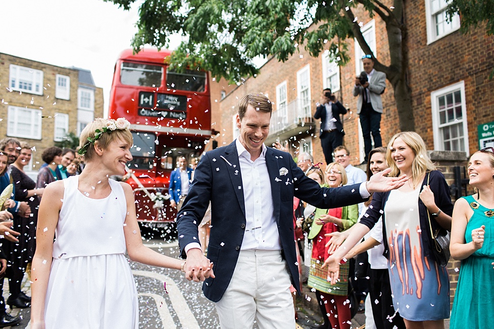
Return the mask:
[[[159,253],[179,257],[178,243],[164,243],[162,240],[148,240],[145,245]],[[219,320],[214,304],[208,301],[201,290],[201,284],[189,282],[179,271],[130,262],[139,293],[141,329],[217,329]],[[4,296],[8,296],[7,280]],[[165,291],[166,284],[166,291]],[[30,295],[29,281],[24,279],[23,290]],[[300,303],[301,304],[301,303]],[[14,309],[13,315],[23,320],[16,329],[30,328],[30,309]],[[309,309],[298,310],[298,324],[308,329],[319,320]],[[356,323],[354,323],[355,325]],[[353,328],[355,326],[352,325]]]

